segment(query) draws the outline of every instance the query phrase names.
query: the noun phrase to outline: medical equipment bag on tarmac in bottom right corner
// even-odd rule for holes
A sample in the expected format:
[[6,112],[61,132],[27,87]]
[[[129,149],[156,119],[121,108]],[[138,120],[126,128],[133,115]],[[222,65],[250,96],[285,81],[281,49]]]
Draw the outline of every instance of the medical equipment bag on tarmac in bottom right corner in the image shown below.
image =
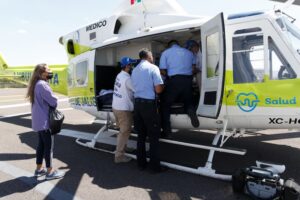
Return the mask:
[[280,178],[284,165],[261,161],[256,161],[256,165],[239,169],[232,176],[234,192],[245,193],[252,199],[300,200],[300,186],[293,179]]

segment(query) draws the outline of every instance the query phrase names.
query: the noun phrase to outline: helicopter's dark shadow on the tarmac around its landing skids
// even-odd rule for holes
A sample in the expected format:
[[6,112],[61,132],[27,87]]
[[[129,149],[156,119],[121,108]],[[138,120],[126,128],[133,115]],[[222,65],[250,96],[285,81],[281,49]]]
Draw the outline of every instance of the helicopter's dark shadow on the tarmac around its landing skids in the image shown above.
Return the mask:
[[[31,120],[22,117],[7,118],[4,121],[31,127]],[[100,128],[100,125],[79,126],[65,124],[63,128],[95,133]],[[187,140],[191,140],[193,143],[201,142],[207,144],[211,143],[214,136],[208,133],[199,134],[188,131],[180,131],[177,134],[180,137],[188,138]],[[37,138],[34,132],[22,133],[19,137],[22,143],[27,144],[33,150],[35,149]],[[216,153],[213,167],[232,174],[238,168],[254,165],[255,160],[265,160],[285,164],[287,169],[283,174],[283,178],[293,177],[299,182],[300,174],[298,168],[300,166],[300,157],[297,156],[300,153],[299,149],[286,145],[266,143],[271,140],[298,137],[300,137],[300,133],[288,132],[232,139],[228,142],[228,145],[247,149],[248,153],[246,156]],[[162,160],[164,158],[170,161],[185,160],[184,164],[192,166],[203,166],[205,164],[203,161],[207,159],[207,155],[204,156],[203,150],[191,151],[188,148],[181,149],[165,146],[162,147],[162,151]],[[148,190],[151,199],[191,199],[193,197],[229,200],[246,198],[245,196],[234,194],[231,184],[227,182],[175,170],[168,170],[165,173],[153,175],[147,170],[139,171],[135,162],[116,165],[113,163],[112,155],[79,147],[74,139],[68,137],[58,136],[55,138],[54,158],[66,163],[67,166],[64,166],[64,168],[69,169],[65,178],[61,179],[56,187],[73,195],[76,194],[83,175],[87,174],[93,178],[92,183],[100,188],[119,189],[127,186],[143,188]]]

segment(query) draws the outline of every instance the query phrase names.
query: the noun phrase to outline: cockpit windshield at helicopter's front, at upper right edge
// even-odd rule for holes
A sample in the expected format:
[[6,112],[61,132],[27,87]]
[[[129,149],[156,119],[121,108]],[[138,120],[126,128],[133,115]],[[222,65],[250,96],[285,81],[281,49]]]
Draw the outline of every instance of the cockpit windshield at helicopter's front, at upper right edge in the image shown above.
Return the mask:
[[300,55],[300,29],[288,17],[282,16],[277,20],[281,30],[285,33],[293,49]]

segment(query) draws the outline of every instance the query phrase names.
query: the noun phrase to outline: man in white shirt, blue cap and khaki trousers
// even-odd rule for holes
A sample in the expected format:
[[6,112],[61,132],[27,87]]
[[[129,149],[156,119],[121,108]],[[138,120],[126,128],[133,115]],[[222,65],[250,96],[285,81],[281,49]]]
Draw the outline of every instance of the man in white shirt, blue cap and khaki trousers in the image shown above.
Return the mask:
[[117,137],[115,163],[129,162],[125,156],[125,147],[131,133],[133,123],[133,87],[130,78],[132,64],[136,60],[128,57],[121,59],[122,71],[118,74],[113,94],[112,108],[120,132]]

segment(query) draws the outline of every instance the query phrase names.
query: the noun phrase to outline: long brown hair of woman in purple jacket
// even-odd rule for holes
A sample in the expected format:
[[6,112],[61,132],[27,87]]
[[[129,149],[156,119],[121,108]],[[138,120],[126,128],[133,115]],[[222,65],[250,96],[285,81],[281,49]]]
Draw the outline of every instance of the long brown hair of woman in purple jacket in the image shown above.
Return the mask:
[[27,94],[26,94],[26,98],[29,99],[29,102],[31,104],[34,103],[34,88],[36,83],[42,79],[42,74],[46,71],[46,66],[47,64],[42,63],[42,64],[38,64],[37,66],[35,66],[35,69],[33,71],[33,74],[31,76],[29,85],[28,85],[28,90],[27,90]]

